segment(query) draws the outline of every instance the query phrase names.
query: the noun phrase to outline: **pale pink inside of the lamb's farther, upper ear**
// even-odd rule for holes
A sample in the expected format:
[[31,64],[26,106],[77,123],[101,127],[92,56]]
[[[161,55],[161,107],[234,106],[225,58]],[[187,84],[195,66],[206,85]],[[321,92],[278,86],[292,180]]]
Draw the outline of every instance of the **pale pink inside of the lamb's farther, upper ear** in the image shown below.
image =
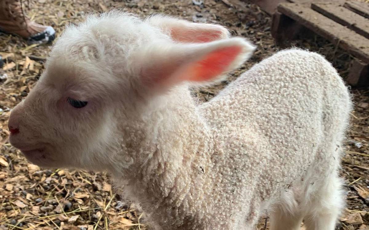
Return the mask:
[[203,29],[172,28],[171,36],[174,40],[188,43],[212,42],[221,38],[222,31]]

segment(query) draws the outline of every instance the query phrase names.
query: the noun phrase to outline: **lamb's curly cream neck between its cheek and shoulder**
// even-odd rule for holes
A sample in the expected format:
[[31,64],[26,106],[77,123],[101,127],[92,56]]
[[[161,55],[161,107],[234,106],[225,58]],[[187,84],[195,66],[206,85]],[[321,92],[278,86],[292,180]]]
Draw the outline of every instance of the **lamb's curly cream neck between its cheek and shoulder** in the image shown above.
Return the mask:
[[133,162],[114,175],[123,182],[126,195],[140,202],[152,200],[147,206],[158,205],[163,199],[181,202],[176,192],[189,190],[212,146],[210,131],[190,94],[173,95],[134,129],[136,136],[127,137],[123,145],[124,154]]

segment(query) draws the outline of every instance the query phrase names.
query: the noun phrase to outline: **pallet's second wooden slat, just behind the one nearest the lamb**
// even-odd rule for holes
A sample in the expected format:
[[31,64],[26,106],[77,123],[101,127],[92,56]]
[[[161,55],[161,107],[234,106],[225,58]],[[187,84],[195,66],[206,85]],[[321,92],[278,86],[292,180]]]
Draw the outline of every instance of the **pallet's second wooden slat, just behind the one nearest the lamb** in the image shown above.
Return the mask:
[[358,15],[347,8],[338,6],[337,3],[312,3],[311,8],[325,17],[347,26],[356,33],[369,38],[369,19]]

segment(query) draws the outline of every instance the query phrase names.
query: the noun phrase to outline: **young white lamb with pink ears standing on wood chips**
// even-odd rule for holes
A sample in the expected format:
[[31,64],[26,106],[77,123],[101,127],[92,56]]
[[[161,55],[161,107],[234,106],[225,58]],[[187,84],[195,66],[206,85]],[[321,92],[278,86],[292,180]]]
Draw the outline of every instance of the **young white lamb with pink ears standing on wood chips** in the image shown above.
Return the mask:
[[209,102],[189,86],[239,67],[255,46],[215,24],[111,11],[69,26],[10,142],[32,163],[108,171],[155,230],[333,230],[351,96],[319,54],[288,49]]

